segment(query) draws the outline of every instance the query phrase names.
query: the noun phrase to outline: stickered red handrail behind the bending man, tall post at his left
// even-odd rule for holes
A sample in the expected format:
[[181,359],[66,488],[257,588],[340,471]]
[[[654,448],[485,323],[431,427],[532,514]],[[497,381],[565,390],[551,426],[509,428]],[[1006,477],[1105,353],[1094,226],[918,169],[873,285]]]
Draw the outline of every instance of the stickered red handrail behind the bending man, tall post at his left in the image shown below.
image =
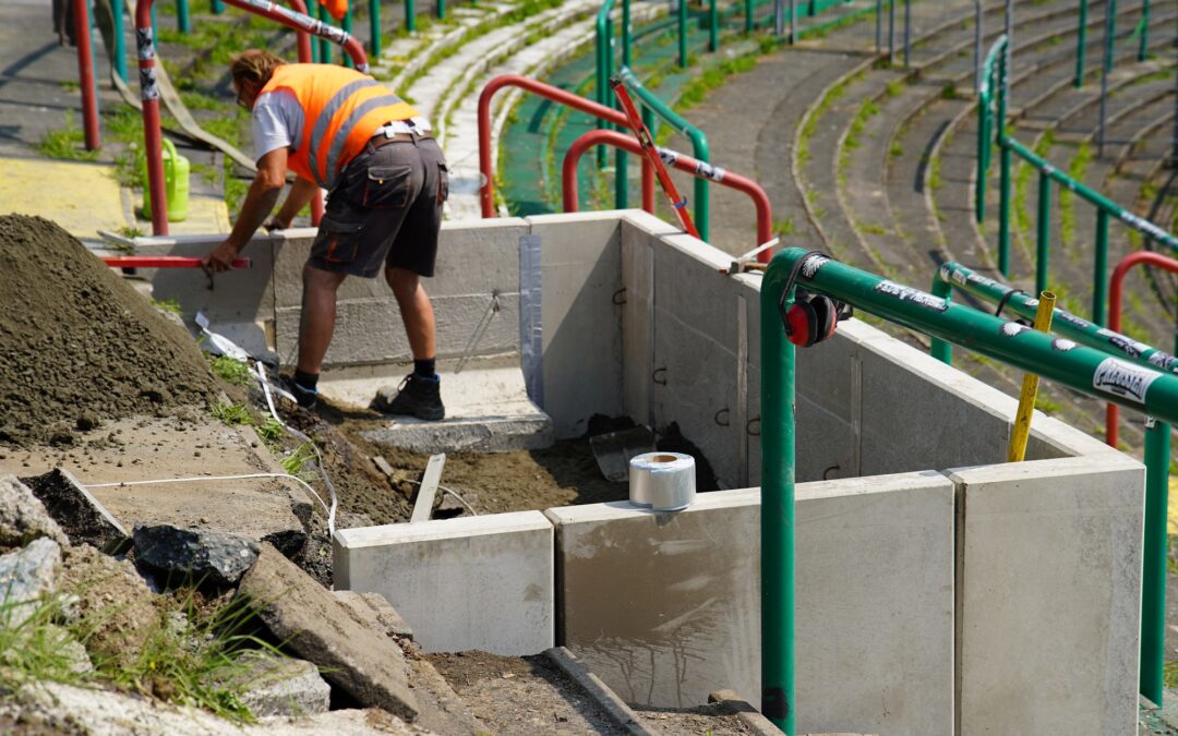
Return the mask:
[[[144,153],[147,157],[147,188],[152,201],[152,233],[166,236],[167,192],[164,185],[164,153],[160,148],[163,132],[159,122],[159,86],[155,81],[154,31],[151,25],[152,1],[140,0],[135,5],[135,49],[139,57],[139,97],[144,107]],[[224,2],[296,31],[303,29],[333,41],[348,52],[359,72],[368,73],[368,55],[364,53],[364,47],[343,28],[329,26],[322,20],[282,7],[270,0],[224,0]]]

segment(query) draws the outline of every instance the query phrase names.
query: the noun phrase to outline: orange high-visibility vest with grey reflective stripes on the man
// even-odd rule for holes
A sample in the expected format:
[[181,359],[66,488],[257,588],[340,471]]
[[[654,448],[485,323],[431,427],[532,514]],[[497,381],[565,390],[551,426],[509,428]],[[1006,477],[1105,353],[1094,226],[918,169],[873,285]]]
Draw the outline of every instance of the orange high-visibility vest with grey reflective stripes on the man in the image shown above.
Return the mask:
[[329,190],[377,130],[417,114],[371,77],[330,64],[284,64],[262,94],[276,89],[289,89],[303,108],[303,140],[294,141],[287,167]]

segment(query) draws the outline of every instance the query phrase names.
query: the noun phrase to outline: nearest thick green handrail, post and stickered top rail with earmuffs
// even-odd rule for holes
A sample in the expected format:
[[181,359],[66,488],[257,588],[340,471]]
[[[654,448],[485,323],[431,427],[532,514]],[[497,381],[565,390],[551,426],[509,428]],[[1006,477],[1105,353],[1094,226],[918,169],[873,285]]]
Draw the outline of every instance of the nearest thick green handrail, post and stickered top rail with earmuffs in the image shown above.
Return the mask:
[[[1105,402],[1178,419],[1178,376],[1160,373],[1103,350],[1061,350],[1051,334],[873,273],[787,248],[761,284],[761,707],[787,734],[796,722],[794,699],[794,347],[777,305],[788,274],[802,258],[798,283],[895,324],[924,332],[1055,380]],[[821,350],[821,347],[819,347]]]

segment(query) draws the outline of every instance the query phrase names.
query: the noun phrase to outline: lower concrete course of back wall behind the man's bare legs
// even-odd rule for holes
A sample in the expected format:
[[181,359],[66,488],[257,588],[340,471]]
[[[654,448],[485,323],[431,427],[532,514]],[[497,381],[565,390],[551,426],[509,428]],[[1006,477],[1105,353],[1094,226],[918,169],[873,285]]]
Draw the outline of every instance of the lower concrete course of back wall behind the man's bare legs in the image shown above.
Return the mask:
[[[518,350],[518,294],[436,297],[432,301],[439,358]],[[298,307],[278,310],[276,343],[284,364],[293,363],[298,347],[299,313]],[[391,293],[382,300],[340,300],[325,366],[405,360],[412,360],[412,353]]]

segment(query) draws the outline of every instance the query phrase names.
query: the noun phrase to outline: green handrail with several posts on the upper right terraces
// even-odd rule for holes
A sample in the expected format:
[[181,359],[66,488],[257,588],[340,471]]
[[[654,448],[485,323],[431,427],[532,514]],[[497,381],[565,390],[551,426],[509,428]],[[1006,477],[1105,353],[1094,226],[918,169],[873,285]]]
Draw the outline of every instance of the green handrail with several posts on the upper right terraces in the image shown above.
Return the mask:
[[[1010,276],[1011,261],[1011,158],[1018,155],[1039,172],[1039,206],[1035,228],[1035,292],[1047,287],[1051,224],[1051,181],[1066,187],[1097,208],[1096,259],[1092,280],[1092,320],[1103,325],[1107,309],[1108,221],[1116,218],[1149,239],[1178,252],[1178,237],[1158,225],[1125,210],[1100,192],[1077,181],[1050,161],[1006,134],[1006,105],[1010,95],[1010,69],[1006,65],[1006,37],[1001,37],[987,54],[988,74],[984,75],[978,102],[978,174],[974,188],[974,214],[978,223],[985,218],[986,179],[990,172],[991,146],[998,145],[999,216],[998,270]],[[997,68],[994,66],[997,62]],[[997,88],[995,88],[997,85]],[[997,104],[997,111],[993,110]],[[997,121],[994,121],[997,117]]]

